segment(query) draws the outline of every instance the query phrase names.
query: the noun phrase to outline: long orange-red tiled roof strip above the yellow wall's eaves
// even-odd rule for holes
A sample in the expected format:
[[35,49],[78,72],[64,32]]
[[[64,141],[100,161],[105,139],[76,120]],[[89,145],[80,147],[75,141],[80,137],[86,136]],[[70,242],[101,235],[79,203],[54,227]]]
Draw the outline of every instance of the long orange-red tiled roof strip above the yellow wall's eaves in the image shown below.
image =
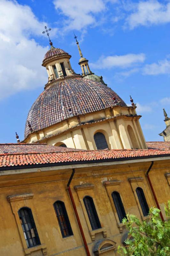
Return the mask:
[[142,150],[142,149],[117,149],[117,150],[93,150],[79,152],[60,153],[30,153],[30,154],[0,154],[0,168],[38,164],[72,164],[81,162],[98,161],[118,161],[133,160],[136,158],[151,158],[159,156],[169,156],[170,150]]

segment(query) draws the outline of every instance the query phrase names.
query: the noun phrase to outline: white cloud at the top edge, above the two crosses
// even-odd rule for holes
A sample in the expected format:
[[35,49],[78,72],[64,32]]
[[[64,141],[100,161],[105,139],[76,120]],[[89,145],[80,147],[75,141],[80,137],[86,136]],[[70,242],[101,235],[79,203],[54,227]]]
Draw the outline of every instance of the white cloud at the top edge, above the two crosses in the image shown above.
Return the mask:
[[67,17],[65,29],[81,30],[96,24],[95,15],[105,9],[102,0],[54,0],[56,10]]

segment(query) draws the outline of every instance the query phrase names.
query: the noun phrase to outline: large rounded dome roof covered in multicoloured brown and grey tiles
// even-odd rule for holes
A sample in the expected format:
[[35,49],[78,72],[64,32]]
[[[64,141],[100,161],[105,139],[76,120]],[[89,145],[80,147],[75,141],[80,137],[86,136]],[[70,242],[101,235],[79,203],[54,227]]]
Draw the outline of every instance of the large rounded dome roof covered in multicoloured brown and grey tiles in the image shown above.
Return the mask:
[[[103,83],[72,76],[51,84],[32,105],[27,121],[33,132],[57,124],[67,118],[84,115],[125,102]],[[25,138],[30,133],[26,121]]]

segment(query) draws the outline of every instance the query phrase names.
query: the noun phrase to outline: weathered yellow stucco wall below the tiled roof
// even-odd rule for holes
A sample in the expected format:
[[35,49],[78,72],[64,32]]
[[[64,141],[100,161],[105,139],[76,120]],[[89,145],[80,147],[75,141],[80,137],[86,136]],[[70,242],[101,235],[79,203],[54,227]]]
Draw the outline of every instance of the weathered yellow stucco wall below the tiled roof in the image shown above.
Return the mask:
[[[126,164],[110,163],[107,166],[103,164],[103,166],[83,167],[81,165],[75,168],[71,190],[91,256],[94,255],[93,248],[97,241],[108,239],[116,243],[115,249],[104,252],[102,255],[117,255],[117,246],[121,244],[122,236],[126,232],[125,227],[119,223],[112,201],[113,191],[120,193],[126,213],[133,213],[141,219],[145,217],[143,217],[135,189],[143,188],[149,207],[155,205],[145,176],[150,164],[149,161],[141,161]],[[164,203],[170,199],[169,184],[167,175],[165,175],[170,173],[169,166],[170,160],[154,161],[150,172],[150,178],[162,209]],[[81,234],[66,188],[72,172],[71,167],[35,168],[12,171],[11,174],[8,171],[8,175],[5,175],[5,172],[7,171],[1,172],[0,175],[0,255],[85,256]],[[83,204],[83,197],[87,195],[93,198],[101,223],[101,229],[96,231],[91,230]],[[61,235],[53,207],[57,200],[65,203],[73,236],[63,238]],[[23,206],[32,210],[41,241],[39,247],[27,249],[18,217],[18,210]],[[163,215],[165,216],[164,210]],[[35,249],[37,250],[34,251]]]

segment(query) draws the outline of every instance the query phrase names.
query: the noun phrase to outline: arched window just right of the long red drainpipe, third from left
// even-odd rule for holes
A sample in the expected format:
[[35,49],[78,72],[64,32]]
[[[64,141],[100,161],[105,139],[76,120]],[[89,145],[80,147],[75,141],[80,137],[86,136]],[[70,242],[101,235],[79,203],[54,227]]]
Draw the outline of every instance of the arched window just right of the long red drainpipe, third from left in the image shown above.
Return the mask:
[[89,217],[91,228],[93,230],[97,229],[97,228],[101,228],[100,221],[99,221],[97,211],[96,211],[96,207],[93,202],[93,198],[90,196],[85,196],[83,201],[84,201],[84,205],[86,207],[86,211],[87,211],[87,214]]

